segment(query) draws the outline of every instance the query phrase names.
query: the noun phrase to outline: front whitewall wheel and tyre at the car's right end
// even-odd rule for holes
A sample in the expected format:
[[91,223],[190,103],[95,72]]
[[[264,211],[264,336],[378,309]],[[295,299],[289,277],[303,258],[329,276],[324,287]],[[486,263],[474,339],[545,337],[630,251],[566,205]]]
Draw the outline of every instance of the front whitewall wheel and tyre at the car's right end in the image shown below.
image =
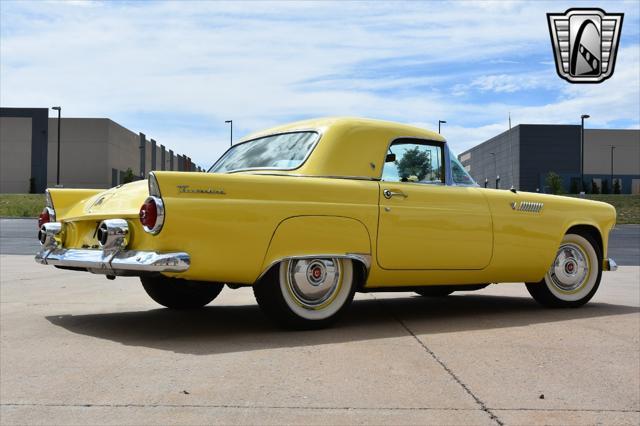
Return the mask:
[[567,234],[542,281],[527,283],[527,290],[544,306],[577,308],[593,297],[601,277],[598,245],[591,237]]

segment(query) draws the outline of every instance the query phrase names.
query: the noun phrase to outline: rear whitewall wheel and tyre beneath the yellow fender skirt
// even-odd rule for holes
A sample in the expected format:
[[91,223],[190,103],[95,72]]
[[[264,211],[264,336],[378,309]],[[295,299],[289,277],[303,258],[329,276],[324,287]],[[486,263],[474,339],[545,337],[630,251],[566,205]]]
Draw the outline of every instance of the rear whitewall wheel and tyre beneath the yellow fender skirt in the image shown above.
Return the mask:
[[349,259],[290,259],[273,267],[253,287],[253,293],[260,308],[280,325],[323,328],[353,300],[354,276]]

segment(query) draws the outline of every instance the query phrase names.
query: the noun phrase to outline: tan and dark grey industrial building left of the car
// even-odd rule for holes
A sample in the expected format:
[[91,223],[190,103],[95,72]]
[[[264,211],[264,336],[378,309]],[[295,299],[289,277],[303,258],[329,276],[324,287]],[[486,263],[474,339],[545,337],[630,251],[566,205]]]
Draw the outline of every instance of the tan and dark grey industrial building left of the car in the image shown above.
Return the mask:
[[[0,193],[44,192],[58,181],[58,119],[48,108],[0,108]],[[127,170],[202,171],[191,158],[108,118],[60,120],[59,182],[67,188],[110,188]]]

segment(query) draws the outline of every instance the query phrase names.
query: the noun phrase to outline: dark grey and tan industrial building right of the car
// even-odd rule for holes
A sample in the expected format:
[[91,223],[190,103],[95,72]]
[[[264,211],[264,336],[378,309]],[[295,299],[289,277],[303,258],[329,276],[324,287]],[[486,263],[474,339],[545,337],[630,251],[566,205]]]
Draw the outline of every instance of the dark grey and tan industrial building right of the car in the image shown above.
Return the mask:
[[580,125],[521,124],[458,159],[478,184],[491,188],[550,192],[545,181],[554,172],[565,192],[640,194],[640,130],[584,129],[582,187],[581,131]]

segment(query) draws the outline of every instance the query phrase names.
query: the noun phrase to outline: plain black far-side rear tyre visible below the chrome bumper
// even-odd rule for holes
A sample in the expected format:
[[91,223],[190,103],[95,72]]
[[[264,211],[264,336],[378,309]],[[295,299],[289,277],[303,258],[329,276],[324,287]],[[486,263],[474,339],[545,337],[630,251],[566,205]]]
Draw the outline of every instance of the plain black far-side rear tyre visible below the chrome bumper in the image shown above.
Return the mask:
[[170,309],[202,308],[222,291],[223,284],[189,281],[162,275],[140,277],[147,294]]

